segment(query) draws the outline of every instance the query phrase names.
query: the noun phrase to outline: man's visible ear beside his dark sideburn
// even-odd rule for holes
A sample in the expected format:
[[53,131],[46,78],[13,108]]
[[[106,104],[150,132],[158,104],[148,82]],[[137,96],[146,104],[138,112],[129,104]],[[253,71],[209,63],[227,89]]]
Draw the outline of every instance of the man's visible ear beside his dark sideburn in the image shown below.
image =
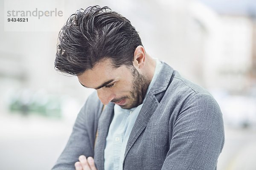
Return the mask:
[[145,65],[146,53],[142,45],[137,46],[134,51],[134,66],[142,68]]

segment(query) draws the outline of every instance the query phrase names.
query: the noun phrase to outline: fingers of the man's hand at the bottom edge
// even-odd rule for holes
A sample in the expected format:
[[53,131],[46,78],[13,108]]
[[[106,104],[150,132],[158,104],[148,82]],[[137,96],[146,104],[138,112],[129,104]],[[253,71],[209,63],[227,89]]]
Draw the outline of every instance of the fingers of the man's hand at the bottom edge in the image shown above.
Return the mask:
[[86,157],[84,155],[79,156],[79,161],[75,163],[76,170],[97,170],[92,157]]

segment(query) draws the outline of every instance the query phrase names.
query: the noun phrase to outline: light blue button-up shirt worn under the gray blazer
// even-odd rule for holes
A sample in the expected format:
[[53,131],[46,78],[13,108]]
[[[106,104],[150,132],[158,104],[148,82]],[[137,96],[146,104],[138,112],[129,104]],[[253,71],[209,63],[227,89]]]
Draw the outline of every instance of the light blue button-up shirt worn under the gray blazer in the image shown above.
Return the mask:
[[[155,60],[156,68],[154,76],[148,86],[146,95],[157,79],[163,65],[158,59]],[[122,170],[126,144],[145,98],[146,96],[144,97],[142,104],[136,108],[122,109],[119,105],[114,106],[114,116],[108,130],[104,151],[105,170]]]

